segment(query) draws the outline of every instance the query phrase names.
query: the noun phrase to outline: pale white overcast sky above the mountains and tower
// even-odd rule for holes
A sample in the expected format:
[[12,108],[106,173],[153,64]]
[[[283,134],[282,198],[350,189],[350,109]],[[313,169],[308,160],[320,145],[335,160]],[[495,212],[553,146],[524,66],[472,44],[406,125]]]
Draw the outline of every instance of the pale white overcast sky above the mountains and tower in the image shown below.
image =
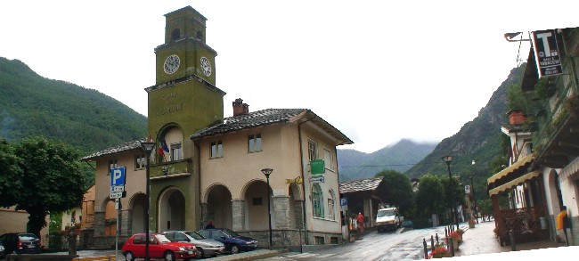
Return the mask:
[[191,5],[208,18],[225,117],[236,98],[251,111],[306,108],[355,142],[341,149],[372,152],[438,142],[476,118],[519,48],[526,60],[528,45],[504,33],[579,25],[576,0],[500,3],[2,1],[0,56],[146,116],[163,15]]

